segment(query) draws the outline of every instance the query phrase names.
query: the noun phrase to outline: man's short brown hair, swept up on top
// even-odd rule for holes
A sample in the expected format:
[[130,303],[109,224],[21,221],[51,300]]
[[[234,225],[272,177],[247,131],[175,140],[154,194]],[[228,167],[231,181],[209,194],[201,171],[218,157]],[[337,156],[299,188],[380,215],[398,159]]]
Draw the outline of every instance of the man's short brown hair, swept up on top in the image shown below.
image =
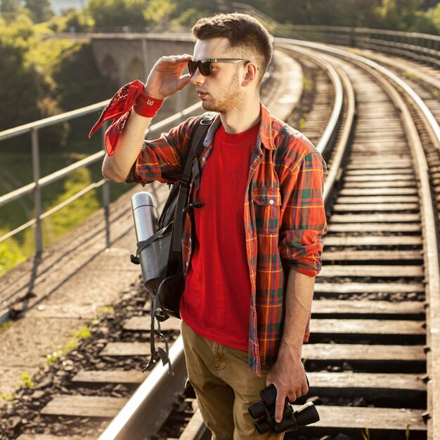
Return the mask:
[[[241,13],[219,13],[212,17],[200,18],[191,30],[194,39],[224,37],[229,41],[229,48],[238,48],[241,56],[251,52],[259,67],[259,82],[264,77],[272,59],[272,37],[261,23],[250,15]],[[252,60],[252,59],[251,59]]]

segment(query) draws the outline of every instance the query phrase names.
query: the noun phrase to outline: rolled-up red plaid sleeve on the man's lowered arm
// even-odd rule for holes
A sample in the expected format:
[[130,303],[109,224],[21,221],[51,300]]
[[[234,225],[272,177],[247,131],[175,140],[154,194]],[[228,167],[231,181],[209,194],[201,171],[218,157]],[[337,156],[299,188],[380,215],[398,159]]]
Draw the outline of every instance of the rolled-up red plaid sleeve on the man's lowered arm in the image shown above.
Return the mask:
[[322,236],[327,231],[323,186],[327,172],[317,151],[293,167],[282,186],[278,248],[283,263],[307,276],[321,271]]

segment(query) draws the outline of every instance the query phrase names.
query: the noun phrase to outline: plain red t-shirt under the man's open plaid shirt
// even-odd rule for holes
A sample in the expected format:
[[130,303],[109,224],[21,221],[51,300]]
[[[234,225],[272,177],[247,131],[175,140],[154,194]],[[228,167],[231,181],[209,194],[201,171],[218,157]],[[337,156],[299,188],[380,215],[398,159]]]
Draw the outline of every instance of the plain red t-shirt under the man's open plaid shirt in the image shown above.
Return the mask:
[[250,275],[245,245],[245,192],[259,123],[238,134],[216,131],[194,209],[195,238],[180,304],[198,335],[247,351]]

